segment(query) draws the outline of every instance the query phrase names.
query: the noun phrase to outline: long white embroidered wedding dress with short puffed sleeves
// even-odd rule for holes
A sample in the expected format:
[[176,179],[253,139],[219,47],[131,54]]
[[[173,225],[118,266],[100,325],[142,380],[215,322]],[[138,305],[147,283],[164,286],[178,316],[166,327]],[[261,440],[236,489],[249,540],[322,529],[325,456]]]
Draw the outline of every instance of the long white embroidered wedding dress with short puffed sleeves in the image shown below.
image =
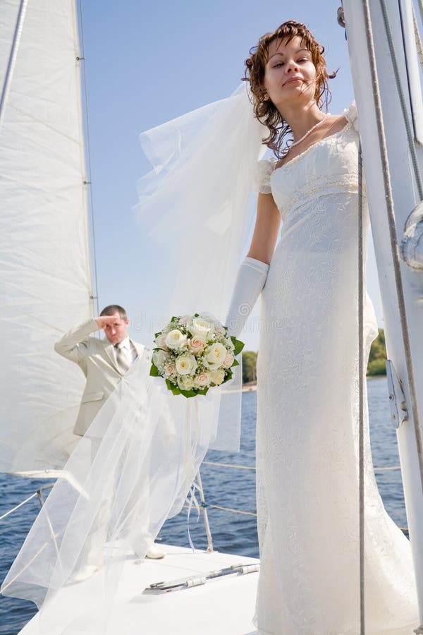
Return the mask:
[[[259,165],[283,217],[262,292],[257,507],[266,635],[360,633],[357,115],[285,166]],[[369,221],[364,218],[364,229]],[[367,234],[367,231],[366,231]],[[377,334],[366,298],[364,343]],[[410,544],[386,514],[365,449],[368,635],[410,634]]]

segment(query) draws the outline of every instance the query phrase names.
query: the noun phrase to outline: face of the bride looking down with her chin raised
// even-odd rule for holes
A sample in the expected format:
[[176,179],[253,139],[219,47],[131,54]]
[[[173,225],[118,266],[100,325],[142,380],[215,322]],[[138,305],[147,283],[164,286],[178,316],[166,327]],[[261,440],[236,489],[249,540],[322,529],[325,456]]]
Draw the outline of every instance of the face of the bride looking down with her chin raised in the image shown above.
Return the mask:
[[300,37],[290,42],[274,40],[269,44],[269,59],[264,72],[264,87],[269,99],[280,110],[285,104],[309,102],[316,90],[316,68],[312,53]]

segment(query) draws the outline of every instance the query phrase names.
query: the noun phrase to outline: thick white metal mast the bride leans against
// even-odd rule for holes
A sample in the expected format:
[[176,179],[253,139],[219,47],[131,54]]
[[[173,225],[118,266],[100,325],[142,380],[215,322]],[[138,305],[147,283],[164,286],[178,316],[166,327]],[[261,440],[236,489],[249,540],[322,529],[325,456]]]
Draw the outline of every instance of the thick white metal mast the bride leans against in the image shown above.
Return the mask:
[[412,3],[344,0],[343,7],[423,624],[423,270],[401,260],[399,249],[407,217],[423,199],[423,105]]

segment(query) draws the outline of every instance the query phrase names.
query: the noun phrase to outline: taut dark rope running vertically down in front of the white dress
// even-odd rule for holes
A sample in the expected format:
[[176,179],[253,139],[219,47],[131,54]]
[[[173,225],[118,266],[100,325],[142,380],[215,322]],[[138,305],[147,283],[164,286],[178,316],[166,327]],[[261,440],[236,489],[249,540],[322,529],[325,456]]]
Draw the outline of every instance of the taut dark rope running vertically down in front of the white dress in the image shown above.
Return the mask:
[[363,259],[363,167],[358,147],[358,482],[360,548],[360,634],[364,635],[364,259]]

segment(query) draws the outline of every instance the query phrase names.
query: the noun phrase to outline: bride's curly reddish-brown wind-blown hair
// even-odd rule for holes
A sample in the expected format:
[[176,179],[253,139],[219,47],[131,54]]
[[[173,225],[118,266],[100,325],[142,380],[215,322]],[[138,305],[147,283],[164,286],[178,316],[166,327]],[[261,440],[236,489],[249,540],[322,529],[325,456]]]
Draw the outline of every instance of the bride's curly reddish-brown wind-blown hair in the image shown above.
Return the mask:
[[245,76],[243,80],[250,83],[251,101],[254,107],[254,114],[257,119],[266,128],[269,129],[269,135],[263,138],[263,143],[267,145],[278,159],[281,159],[288,152],[286,143],[286,135],[291,133],[290,126],[283,119],[281,113],[276,106],[267,99],[266,89],[264,88],[264,73],[266,71],[266,63],[269,59],[269,45],[274,40],[290,42],[294,37],[300,37],[302,44],[312,54],[312,62],[316,68],[316,92],[314,99],[319,108],[325,107],[331,101],[331,92],[329,91],[329,78],[336,76],[336,71],[329,74],[324,59],[324,47],[319,44],[312,32],[310,32],[304,24],[288,20],[279,26],[276,31],[266,33],[259,39],[257,47],[250,49],[250,57],[245,60]]

